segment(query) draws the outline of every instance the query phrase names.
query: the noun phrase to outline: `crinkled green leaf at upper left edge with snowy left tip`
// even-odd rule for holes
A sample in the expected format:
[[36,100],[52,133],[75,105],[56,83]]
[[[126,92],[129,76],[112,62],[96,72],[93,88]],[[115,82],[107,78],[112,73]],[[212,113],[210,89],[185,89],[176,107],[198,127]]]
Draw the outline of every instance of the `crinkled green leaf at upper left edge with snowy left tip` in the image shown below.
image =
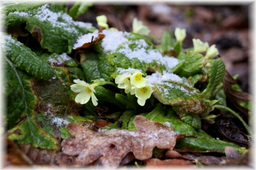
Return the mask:
[[3,51],[13,64],[25,70],[28,74],[41,79],[49,79],[54,76],[51,66],[41,59],[30,48],[18,42],[11,35],[4,34]]

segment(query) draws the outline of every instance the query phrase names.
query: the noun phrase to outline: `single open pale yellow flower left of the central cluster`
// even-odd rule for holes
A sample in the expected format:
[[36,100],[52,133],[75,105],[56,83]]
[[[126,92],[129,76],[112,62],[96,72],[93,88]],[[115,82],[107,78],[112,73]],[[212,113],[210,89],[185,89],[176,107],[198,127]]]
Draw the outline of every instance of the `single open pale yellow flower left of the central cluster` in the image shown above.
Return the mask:
[[90,98],[92,98],[92,102],[94,106],[97,106],[98,100],[95,96],[95,89],[93,86],[89,85],[85,81],[81,80],[74,80],[76,84],[71,85],[71,90],[74,91],[75,93],[78,93],[75,97],[75,102],[80,103],[80,104],[85,104],[87,103]]

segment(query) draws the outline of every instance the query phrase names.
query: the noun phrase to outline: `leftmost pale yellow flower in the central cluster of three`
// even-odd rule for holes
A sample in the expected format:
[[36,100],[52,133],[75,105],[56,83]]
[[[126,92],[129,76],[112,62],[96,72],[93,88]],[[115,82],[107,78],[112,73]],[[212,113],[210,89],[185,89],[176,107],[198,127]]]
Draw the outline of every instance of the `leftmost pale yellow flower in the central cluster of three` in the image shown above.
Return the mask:
[[117,87],[120,89],[124,89],[125,93],[129,93],[132,85],[130,82],[131,74],[118,75],[115,77],[115,83],[118,84]]

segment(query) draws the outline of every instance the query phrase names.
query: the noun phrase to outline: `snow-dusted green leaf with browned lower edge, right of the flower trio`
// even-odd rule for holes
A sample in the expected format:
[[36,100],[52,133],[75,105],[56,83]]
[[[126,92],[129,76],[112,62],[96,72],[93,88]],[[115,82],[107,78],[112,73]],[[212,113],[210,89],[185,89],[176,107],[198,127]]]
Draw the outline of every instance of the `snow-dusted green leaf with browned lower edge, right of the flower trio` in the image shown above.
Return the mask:
[[206,104],[200,94],[189,86],[177,82],[154,84],[153,95],[165,105],[177,106],[180,110],[192,113],[202,113]]

